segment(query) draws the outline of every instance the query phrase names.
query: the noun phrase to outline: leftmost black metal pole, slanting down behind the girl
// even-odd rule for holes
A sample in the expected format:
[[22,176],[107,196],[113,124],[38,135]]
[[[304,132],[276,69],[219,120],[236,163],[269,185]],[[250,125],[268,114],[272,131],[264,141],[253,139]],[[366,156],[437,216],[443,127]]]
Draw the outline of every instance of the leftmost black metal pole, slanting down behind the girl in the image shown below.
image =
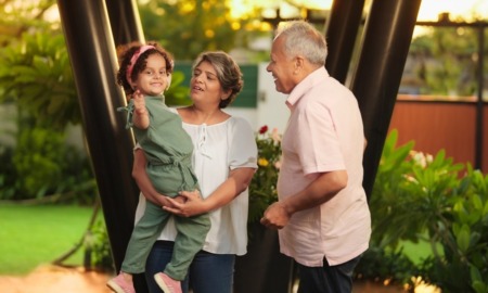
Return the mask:
[[84,129],[116,270],[133,227],[139,190],[131,178],[133,137],[125,129],[124,94],[105,1],[57,0]]

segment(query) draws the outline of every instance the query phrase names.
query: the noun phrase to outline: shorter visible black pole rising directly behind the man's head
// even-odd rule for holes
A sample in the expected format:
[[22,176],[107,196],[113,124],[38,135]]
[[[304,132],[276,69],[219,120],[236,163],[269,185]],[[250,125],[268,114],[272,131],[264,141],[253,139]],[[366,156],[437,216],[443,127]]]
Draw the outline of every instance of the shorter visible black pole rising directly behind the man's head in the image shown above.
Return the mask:
[[342,84],[347,78],[363,9],[364,0],[334,0],[328,17],[325,38],[329,53],[325,68]]

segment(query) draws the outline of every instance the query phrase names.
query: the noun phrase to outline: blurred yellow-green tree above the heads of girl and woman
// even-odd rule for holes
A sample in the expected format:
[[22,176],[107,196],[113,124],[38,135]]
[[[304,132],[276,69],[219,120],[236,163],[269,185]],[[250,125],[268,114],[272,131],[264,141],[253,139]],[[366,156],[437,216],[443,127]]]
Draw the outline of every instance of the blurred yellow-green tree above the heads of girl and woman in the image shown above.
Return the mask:
[[230,51],[246,21],[232,20],[228,1],[150,0],[139,4],[147,40],[159,41],[177,60],[205,50]]

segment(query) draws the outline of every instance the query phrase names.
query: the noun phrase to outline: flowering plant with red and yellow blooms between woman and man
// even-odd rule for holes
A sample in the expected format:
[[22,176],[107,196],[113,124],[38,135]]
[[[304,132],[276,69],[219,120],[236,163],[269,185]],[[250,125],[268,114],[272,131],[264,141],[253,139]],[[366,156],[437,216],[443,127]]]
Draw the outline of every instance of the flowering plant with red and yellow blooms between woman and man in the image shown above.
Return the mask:
[[248,221],[256,222],[262,217],[265,209],[278,201],[277,181],[281,165],[281,135],[274,128],[268,131],[262,126],[256,133],[258,148],[258,169],[249,184]]

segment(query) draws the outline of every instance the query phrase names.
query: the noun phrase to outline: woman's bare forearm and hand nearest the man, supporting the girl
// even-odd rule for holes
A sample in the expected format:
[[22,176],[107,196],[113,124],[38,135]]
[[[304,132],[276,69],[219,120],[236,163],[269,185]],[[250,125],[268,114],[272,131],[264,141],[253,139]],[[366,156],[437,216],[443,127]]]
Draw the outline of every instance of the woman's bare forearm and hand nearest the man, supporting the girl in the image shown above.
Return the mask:
[[211,212],[224,206],[239,194],[241,194],[251,183],[255,168],[243,167],[230,171],[229,177],[223,181],[208,198],[203,200],[197,191],[183,191],[180,194],[187,198],[184,204],[168,199],[174,207],[164,206],[163,208],[183,217],[191,217]]

